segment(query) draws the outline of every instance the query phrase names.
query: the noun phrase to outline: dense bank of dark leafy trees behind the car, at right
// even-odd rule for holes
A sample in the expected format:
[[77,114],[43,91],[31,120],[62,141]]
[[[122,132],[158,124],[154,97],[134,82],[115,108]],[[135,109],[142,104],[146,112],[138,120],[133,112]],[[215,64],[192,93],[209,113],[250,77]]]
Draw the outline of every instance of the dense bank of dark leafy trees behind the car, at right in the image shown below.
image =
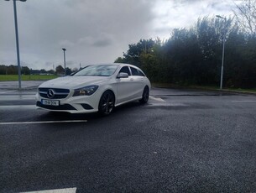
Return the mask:
[[224,34],[223,86],[256,87],[256,35],[232,18],[199,18],[190,29],[174,29],[165,42],[140,39],[115,62],[138,65],[153,82],[219,86]]

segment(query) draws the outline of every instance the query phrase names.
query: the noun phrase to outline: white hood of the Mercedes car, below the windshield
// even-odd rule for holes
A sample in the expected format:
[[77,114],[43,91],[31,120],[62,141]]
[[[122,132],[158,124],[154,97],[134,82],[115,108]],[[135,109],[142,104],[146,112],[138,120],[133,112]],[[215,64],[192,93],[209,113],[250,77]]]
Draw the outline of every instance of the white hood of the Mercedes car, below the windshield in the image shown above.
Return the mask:
[[45,81],[39,87],[76,89],[109,81],[109,76],[65,76]]

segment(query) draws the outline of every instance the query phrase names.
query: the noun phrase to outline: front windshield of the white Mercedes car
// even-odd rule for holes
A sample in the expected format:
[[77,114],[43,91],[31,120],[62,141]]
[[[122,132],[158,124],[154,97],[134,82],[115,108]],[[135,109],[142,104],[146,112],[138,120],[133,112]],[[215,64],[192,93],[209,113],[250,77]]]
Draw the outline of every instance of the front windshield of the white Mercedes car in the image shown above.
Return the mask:
[[112,76],[118,65],[88,65],[74,76]]

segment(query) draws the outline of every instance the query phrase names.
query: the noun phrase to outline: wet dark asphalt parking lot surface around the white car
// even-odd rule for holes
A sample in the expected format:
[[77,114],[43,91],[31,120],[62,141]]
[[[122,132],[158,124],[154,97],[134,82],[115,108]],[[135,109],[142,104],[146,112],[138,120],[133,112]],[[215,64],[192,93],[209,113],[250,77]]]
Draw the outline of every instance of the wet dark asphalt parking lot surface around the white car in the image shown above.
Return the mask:
[[153,88],[109,117],[0,82],[0,192],[256,192],[256,97]]

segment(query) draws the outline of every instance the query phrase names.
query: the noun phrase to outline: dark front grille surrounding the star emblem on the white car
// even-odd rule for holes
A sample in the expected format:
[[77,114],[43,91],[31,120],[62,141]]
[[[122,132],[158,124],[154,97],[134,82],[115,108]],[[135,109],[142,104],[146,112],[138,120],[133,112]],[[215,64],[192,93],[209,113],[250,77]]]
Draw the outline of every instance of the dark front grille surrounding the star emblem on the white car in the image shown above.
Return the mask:
[[[52,90],[54,93],[53,97],[49,97],[49,91]],[[65,98],[69,95],[69,89],[62,89],[62,88],[39,88],[39,95],[44,98],[50,99],[61,99]]]

